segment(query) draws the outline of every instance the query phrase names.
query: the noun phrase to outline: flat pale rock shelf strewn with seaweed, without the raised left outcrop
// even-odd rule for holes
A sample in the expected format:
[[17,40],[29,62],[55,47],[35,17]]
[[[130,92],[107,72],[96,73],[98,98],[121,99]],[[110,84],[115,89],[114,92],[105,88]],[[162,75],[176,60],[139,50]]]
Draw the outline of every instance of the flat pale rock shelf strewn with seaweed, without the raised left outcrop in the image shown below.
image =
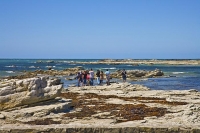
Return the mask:
[[[51,87],[45,87],[46,91],[50,91]],[[1,111],[6,119],[0,120],[0,132],[189,133],[200,131],[199,99],[193,99],[199,97],[199,92],[140,91],[140,87],[142,90],[145,88],[129,83],[69,87],[61,95],[66,98],[65,100],[55,98],[31,106]],[[68,98],[72,100],[67,100]],[[138,111],[141,107],[142,110]],[[153,109],[156,109],[154,110],[156,112]],[[162,109],[167,109],[166,114],[160,116]],[[130,110],[131,115],[136,116],[131,117]],[[115,111],[120,112],[115,113]],[[138,115],[143,116],[144,111],[148,114],[144,119],[126,121],[129,118],[137,118]],[[149,113],[153,116],[149,116]]]

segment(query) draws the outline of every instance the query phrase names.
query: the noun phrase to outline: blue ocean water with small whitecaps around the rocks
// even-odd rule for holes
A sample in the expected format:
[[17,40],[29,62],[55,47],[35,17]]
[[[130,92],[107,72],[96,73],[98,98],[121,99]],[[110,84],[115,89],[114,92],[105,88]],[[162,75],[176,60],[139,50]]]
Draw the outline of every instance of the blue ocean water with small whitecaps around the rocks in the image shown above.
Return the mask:
[[[145,65],[133,66],[130,64],[79,64],[77,62],[96,62],[98,59],[0,59],[0,78],[23,74],[24,71],[35,71],[38,69],[48,70],[52,67],[55,70],[63,70],[76,66],[93,70],[109,69],[111,72],[116,70],[155,70],[160,69],[164,72],[164,77],[149,78],[142,81],[129,81],[132,84],[142,84],[152,90],[189,90],[197,89],[200,91],[200,66],[199,65]],[[75,80],[65,80],[66,76],[60,76],[64,87],[76,84]],[[116,81],[121,81],[113,79]]]

